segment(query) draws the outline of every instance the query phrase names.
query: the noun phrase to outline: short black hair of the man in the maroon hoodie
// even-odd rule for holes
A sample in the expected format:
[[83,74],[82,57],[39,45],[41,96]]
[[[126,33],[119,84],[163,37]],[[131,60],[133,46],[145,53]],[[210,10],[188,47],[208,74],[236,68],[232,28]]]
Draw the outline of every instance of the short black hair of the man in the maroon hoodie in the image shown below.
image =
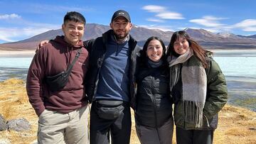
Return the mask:
[[84,25],[86,23],[85,17],[82,16],[81,13],[78,13],[76,11],[70,11],[66,13],[66,15],[64,16],[64,23],[68,21],[75,21],[75,22],[83,23]]

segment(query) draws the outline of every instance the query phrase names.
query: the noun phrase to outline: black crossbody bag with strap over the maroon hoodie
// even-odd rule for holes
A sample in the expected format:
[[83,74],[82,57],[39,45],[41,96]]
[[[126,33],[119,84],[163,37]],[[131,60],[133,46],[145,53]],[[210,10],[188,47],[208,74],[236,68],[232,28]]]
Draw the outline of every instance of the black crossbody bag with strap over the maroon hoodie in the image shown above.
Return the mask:
[[48,85],[48,88],[50,89],[51,92],[56,92],[60,89],[63,89],[63,87],[65,87],[65,85],[68,83],[68,77],[73,68],[73,65],[75,64],[75,62],[78,60],[78,57],[80,56],[81,50],[82,48],[78,50],[73,62],[71,63],[71,65],[68,66],[66,71],[60,72],[53,76],[47,76],[45,78],[45,82]]

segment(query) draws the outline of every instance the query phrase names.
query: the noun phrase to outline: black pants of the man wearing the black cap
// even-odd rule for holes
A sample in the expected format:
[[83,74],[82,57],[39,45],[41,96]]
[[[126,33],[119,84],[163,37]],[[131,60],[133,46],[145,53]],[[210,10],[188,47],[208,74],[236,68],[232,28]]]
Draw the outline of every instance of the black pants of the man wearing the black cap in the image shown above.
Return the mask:
[[97,116],[95,111],[95,102],[92,102],[90,111],[90,144],[110,143],[110,134],[112,144],[129,144],[131,135],[131,111],[129,104],[124,102],[124,111],[114,120],[106,120]]

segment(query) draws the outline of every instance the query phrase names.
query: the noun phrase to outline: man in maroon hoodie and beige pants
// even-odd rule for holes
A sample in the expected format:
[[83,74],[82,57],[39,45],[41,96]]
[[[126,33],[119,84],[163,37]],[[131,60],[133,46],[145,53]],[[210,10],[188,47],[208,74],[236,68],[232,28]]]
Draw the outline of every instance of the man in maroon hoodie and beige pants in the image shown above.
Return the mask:
[[[87,72],[88,52],[83,48],[85,18],[68,12],[62,25],[64,36],[57,36],[36,52],[28,70],[26,90],[38,115],[38,143],[88,143],[87,100],[83,79]],[[51,90],[46,77],[67,70],[80,56],[63,88]]]

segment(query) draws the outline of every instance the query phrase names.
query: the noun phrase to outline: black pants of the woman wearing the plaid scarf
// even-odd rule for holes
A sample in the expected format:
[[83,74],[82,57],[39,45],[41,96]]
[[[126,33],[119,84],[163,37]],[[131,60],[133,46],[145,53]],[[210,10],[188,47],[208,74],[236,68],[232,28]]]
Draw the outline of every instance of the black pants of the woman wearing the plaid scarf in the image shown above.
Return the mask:
[[184,130],[176,127],[177,144],[212,144],[213,130]]

